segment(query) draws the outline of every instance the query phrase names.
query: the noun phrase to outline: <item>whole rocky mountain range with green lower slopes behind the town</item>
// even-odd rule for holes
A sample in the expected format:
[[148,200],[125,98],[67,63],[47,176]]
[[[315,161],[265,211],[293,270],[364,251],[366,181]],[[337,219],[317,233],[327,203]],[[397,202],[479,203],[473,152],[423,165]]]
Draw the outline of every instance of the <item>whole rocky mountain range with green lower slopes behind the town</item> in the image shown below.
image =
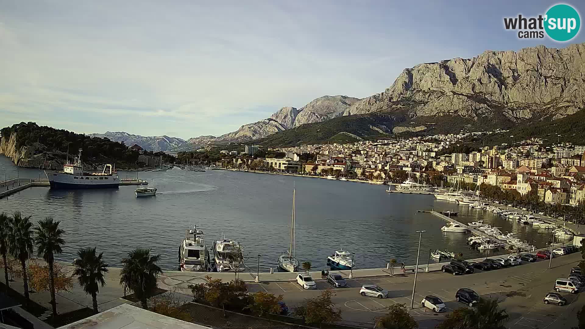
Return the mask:
[[[522,122],[565,118],[584,107],[585,43],[563,49],[486,51],[471,59],[457,57],[405,68],[386,90],[361,100],[319,97],[300,109],[283,107],[270,118],[242,125],[237,131],[191,138],[174,148],[250,140],[290,145],[324,141],[339,133],[361,138],[510,128]],[[318,132],[312,132],[312,127]],[[304,139],[306,135],[311,138]]]

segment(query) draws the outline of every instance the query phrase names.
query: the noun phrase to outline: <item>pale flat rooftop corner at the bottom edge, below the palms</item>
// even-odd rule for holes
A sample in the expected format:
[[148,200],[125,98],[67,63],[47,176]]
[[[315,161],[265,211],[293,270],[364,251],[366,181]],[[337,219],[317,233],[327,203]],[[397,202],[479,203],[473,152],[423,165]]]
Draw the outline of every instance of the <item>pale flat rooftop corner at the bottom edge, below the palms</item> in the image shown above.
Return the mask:
[[167,316],[122,304],[95,316],[64,325],[59,329],[211,329],[203,325],[177,320]]

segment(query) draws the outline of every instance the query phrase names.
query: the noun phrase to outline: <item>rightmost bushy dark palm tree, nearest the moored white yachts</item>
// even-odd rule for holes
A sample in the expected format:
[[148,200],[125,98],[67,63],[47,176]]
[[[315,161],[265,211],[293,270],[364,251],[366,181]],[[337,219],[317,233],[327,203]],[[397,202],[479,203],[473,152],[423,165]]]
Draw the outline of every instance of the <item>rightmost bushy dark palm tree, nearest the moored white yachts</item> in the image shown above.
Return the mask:
[[150,256],[150,249],[136,248],[122,259],[124,267],[120,273],[120,284],[132,290],[140,299],[142,308],[147,310],[146,300],[157,288],[159,274],[163,273],[156,262],[160,255]]

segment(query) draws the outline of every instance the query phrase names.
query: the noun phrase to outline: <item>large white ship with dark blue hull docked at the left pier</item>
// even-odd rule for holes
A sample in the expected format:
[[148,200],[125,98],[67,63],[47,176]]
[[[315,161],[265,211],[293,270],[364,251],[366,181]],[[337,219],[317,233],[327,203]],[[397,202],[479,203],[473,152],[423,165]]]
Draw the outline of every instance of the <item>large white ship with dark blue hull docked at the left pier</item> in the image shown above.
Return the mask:
[[101,173],[84,172],[81,165],[81,150],[73,163],[63,165],[63,172],[47,172],[51,189],[104,189],[118,188],[120,181],[112,165],[105,165]]

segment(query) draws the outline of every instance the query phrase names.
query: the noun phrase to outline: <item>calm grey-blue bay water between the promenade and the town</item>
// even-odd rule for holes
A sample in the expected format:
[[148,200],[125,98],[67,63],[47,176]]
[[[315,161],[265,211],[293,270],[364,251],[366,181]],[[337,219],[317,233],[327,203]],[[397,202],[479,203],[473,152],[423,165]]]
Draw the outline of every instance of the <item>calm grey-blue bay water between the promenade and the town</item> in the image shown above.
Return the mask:
[[[0,176],[35,178],[36,169],[17,169],[0,156]],[[120,172],[120,177],[136,173]],[[326,257],[340,248],[355,253],[356,268],[380,268],[392,258],[416,262],[418,233],[422,235],[421,263],[429,249],[463,252],[479,257],[465,244],[467,234],[444,233],[444,223],[417,210],[459,210],[458,220],[487,220],[501,231],[544,246],[545,231],[503,220],[491,213],[459,206],[433,196],[386,193],[385,186],[308,177],[208,170],[139,173],[157,187],[156,197],[136,198],[135,186],[118,190],[50,190],[33,187],[0,200],[0,211],[20,211],[36,222],[45,216],[61,220],[67,245],[59,258],[72,261],[78,248],[97,247],[111,266],[120,266],[131,249],[152,248],[161,254],[161,267],[177,268],[185,230],[201,222],[208,247],[214,239],[236,239],[245,245],[246,262],[255,272],[276,268],[278,255],[288,248],[292,188],[297,189],[297,256],[325,268]]]

